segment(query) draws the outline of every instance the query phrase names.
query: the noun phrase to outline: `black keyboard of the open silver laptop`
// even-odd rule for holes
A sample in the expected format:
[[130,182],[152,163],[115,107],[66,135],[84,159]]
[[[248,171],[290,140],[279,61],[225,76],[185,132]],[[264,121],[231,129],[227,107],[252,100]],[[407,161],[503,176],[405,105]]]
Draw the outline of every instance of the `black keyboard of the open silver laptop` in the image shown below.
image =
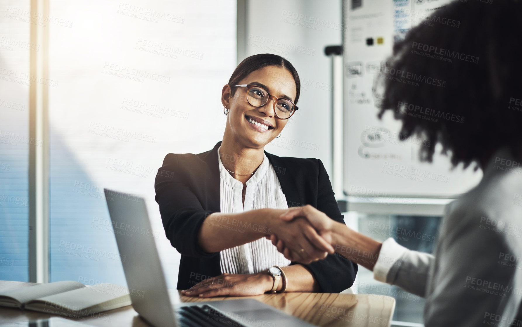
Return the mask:
[[178,307],[177,317],[183,327],[247,327],[208,305]]

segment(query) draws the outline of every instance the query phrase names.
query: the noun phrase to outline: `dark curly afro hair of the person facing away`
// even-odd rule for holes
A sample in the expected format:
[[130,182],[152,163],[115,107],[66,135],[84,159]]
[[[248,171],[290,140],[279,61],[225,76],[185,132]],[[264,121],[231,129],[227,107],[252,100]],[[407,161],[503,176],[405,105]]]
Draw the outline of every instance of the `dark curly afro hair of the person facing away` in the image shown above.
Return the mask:
[[[449,3],[394,44],[377,79],[384,85],[378,117],[393,110],[402,138],[440,142],[454,166],[480,165],[504,146],[521,158],[520,60],[522,1]],[[398,74],[419,83],[398,81]],[[420,159],[431,162],[433,153],[423,146]]]

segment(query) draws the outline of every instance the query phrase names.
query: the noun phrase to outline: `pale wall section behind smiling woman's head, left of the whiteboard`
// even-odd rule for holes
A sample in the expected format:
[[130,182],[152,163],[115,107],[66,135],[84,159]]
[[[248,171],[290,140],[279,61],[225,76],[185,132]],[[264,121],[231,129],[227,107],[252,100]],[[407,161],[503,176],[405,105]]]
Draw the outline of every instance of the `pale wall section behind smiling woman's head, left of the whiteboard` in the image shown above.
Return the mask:
[[340,1],[247,1],[244,35],[244,40],[238,40],[238,53],[245,57],[258,53],[283,56],[301,79],[299,110],[265,150],[321,159],[331,175],[332,86],[330,58],[324,55],[324,47],[341,44]]

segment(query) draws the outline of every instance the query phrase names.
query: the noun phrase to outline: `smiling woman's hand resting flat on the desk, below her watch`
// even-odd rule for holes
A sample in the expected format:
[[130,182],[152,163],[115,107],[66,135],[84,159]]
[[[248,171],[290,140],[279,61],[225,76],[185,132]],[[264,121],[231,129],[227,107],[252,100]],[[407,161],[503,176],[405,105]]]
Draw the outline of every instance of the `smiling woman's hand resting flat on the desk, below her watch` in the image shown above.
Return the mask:
[[274,279],[267,272],[256,274],[228,274],[208,278],[181,294],[186,296],[252,296],[264,294],[272,288]]

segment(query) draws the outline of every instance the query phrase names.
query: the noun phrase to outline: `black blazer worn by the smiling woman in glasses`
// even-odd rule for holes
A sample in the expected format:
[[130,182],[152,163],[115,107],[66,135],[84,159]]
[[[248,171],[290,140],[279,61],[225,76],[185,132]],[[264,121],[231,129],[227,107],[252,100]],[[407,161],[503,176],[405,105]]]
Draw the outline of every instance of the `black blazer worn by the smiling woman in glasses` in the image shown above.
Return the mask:
[[[169,153],[156,175],[155,190],[165,235],[181,253],[177,289],[191,288],[221,274],[219,252],[207,253],[197,234],[205,218],[220,212],[218,148],[192,154]],[[321,160],[279,157],[265,151],[274,167],[288,207],[311,204],[344,223]],[[307,264],[321,292],[339,293],[353,285],[357,264],[338,255]]]

